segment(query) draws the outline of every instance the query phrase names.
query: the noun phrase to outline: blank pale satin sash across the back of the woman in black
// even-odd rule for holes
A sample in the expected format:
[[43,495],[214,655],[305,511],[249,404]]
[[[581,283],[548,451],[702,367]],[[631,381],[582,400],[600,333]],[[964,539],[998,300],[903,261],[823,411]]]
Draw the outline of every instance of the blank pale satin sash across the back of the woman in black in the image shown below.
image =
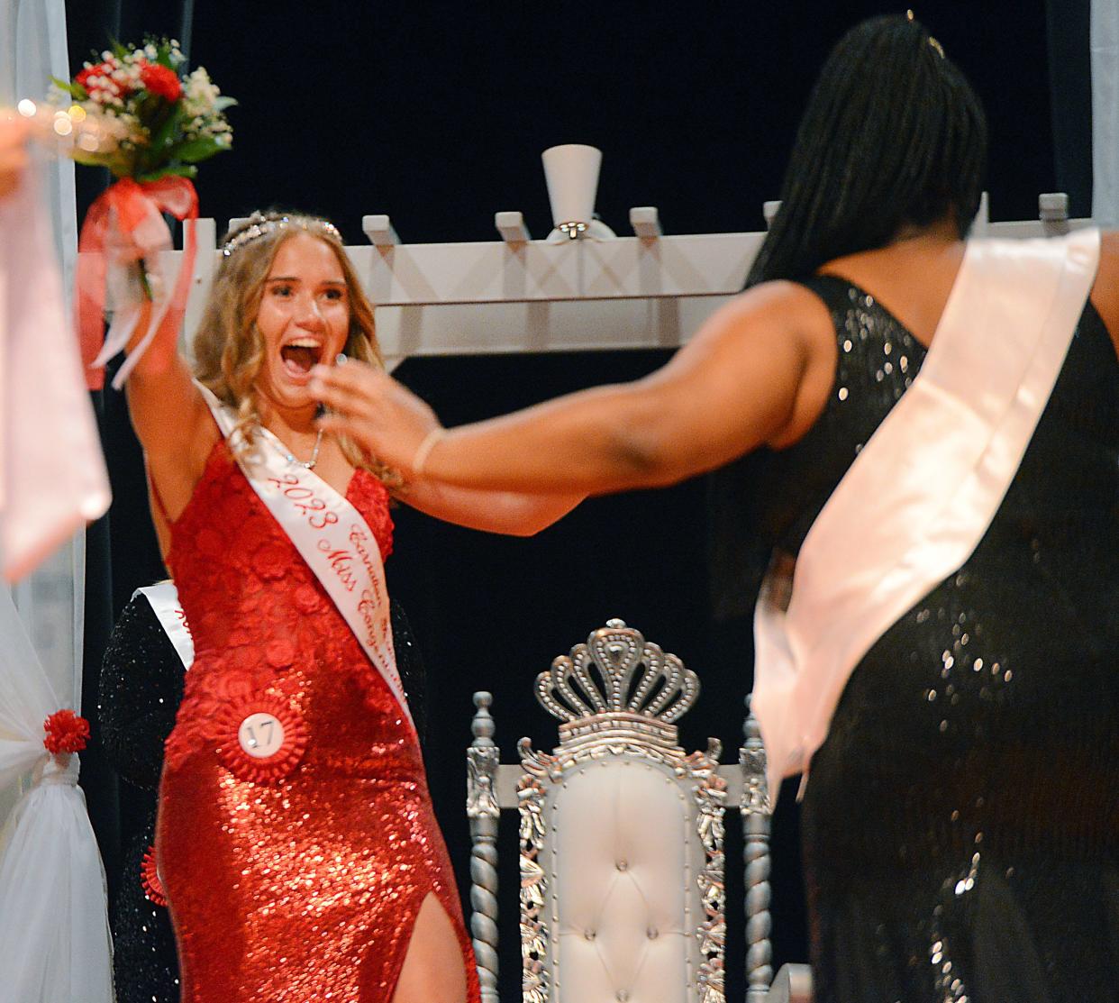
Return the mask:
[[920,373],[812,524],[788,609],[754,612],[752,707],[769,790],[803,772],[852,672],[971,555],[1069,350],[1099,232],[972,240]]

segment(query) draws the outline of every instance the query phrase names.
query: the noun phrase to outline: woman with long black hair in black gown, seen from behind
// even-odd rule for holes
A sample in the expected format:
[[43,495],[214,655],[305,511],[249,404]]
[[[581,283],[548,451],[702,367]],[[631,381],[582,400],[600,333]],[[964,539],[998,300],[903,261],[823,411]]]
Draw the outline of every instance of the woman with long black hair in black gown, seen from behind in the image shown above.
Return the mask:
[[[864,22],[814,91],[747,290],[664,369],[453,430],[383,374],[320,369],[323,424],[415,482],[602,494],[726,468],[796,590],[809,527],[948,337],[957,276],[1004,253],[965,241],[985,159],[982,111],[939,43],[912,18]],[[1002,503],[969,514],[970,555],[848,666],[811,757],[817,1003],[1119,1000],[1119,238],[1089,236],[1090,300],[1073,298]],[[1007,289],[985,274],[963,287],[979,330]],[[970,324],[948,329],[974,350]],[[935,434],[885,472],[930,462]]]

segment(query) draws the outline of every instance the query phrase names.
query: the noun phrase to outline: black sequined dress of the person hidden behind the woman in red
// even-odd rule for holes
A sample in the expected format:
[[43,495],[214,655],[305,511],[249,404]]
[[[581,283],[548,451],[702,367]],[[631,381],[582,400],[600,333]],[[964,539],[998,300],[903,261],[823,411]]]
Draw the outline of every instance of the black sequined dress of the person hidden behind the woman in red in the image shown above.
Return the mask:
[[[403,607],[391,607],[396,664],[421,743],[426,723],[423,660]],[[154,842],[163,742],[182,700],[184,667],[151,604],[137,596],[116,621],[102,663],[98,718],[109,760],[142,819],[122,840],[121,875],[110,909],[117,1003],[179,1003],[179,965],[167,907],[141,874]]]

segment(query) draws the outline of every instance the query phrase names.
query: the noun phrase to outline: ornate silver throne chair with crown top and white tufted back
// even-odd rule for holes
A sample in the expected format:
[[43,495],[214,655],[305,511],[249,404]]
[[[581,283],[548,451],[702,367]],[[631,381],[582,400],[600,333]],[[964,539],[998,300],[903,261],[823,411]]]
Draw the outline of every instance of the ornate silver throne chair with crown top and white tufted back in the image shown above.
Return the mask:
[[679,658],[610,620],[536,679],[561,722],[552,752],[521,739],[520,765],[501,766],[490,694],[474,694],[467,812],[483,1003],[498,1001],[497,824],[514,807],[525,1003],[723,1003],[727,806],[745,826],[747,1000],[777,999],[764,751],[749,719],[740,765],[720,767],[714,739],[685,753],[674,722],[698,692]]

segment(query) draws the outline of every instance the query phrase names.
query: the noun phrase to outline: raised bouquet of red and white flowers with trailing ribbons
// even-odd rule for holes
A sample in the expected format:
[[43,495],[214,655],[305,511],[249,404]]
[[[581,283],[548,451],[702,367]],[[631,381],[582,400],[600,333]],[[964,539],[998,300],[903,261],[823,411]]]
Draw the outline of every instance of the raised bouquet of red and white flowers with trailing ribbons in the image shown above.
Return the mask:
[[[195,232],[185,228],[182,263],[169,292],[159,266],[160,252],[171,249],[162,214],[197,218],[196,165],[233,144],[225,110],[236,102],[203,67],[182,73],[185,62],[177,41],[149,38],[139,47],[114,44],[73,81],[51,81],[54,131],[73,133],[69,150],[78,163],[105,167],[117,178],[90,207],[78,241],[78,330],[94,390],[104,378],[100,367],[147,327],[113,381],[120,387],[168,311],[185,307]],[[103,337],[106,306],[112,325]]]

